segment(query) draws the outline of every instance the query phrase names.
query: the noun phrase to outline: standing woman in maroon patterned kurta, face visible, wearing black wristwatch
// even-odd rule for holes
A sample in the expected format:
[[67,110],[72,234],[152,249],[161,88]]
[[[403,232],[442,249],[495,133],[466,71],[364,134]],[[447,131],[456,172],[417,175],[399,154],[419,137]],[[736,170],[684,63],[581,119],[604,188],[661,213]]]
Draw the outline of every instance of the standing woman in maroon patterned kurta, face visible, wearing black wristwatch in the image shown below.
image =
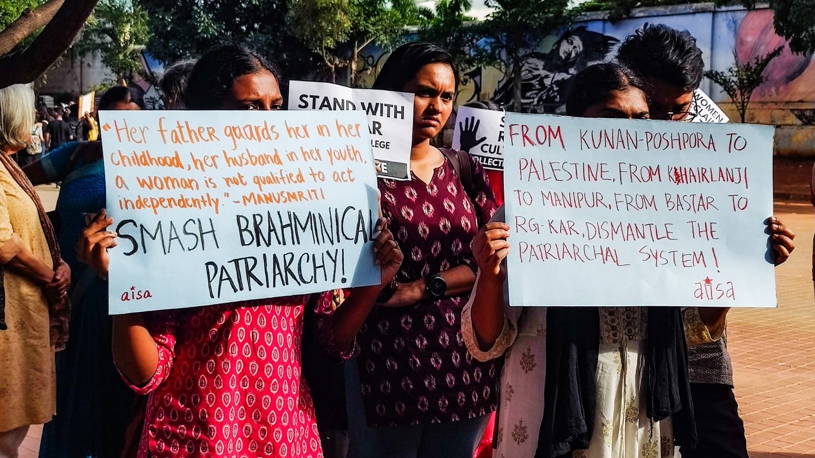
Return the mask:
[[411,43],[390,55],[374,83],[416,97],[410,178],[379,181],[382,214],[405,259],[390,297],[359,332],[357,373],[346,372],[355,458],[471,458],[496,408],[496,363],[474,360],[460,335],[475,280],[469,244],[496,205],[478,161],[469,160],[465,189],[456,167],[430,146],[452,112],[456,81],[447,51]]

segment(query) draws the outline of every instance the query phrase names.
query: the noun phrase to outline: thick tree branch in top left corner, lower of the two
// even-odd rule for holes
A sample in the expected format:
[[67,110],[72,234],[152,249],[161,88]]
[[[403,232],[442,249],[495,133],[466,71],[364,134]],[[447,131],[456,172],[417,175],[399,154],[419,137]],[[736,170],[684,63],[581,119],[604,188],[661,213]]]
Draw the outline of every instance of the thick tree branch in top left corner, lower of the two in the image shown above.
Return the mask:
[[99,0],[64,2],[29,47],[0,57],[0,68],[14,68],[13,72],[0,73],[0,89],[12,84],[29,83],[46,73],[51,64],[71,46],[97,2]]

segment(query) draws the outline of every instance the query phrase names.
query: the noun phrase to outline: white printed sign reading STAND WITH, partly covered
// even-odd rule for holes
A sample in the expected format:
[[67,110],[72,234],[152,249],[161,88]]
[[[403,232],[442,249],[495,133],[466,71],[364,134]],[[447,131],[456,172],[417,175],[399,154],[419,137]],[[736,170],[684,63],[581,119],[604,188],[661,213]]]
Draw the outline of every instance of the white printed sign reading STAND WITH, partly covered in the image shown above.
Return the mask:
[[291,110],[364,110],[379,176],[410,177],[413,95],[392,90],[354,89],[317,81],[289,83]]

